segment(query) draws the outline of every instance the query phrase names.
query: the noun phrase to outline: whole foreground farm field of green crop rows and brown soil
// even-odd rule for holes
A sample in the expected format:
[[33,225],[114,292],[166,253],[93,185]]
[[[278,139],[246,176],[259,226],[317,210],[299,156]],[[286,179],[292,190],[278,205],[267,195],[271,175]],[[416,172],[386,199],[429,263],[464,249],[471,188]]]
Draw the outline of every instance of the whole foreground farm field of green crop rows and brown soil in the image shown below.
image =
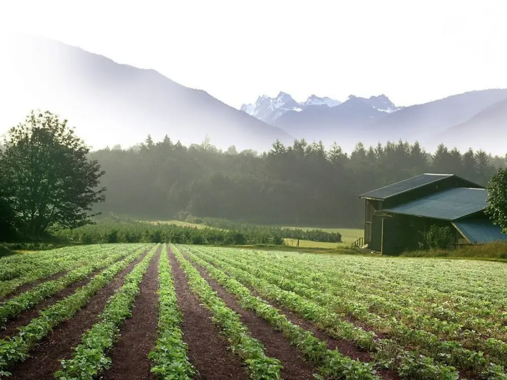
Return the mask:
[[0,378],[507,379],[506,275],[150,243],[11,255]]

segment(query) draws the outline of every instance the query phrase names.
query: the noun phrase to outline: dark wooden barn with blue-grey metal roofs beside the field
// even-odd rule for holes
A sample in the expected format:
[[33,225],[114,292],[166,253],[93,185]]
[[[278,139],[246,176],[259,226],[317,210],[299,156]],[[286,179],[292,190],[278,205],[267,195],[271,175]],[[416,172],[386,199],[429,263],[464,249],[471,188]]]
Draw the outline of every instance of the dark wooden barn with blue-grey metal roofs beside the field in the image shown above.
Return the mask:
[[361,194],[365,245],[382,254],[418,249],[431,225],[450,226],[454,246],[507,240],[484,210],[488,192],[452,174],[421,174]]

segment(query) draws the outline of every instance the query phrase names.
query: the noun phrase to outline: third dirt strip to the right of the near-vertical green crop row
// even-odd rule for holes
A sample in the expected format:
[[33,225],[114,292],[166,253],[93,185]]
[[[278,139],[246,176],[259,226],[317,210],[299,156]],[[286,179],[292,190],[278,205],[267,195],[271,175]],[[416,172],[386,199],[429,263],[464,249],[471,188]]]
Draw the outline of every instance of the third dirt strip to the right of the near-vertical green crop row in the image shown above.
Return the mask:
[[[213,265],[215,268],[216,265]],[[261,299],[265,299],[257,290],[253,289],[251,286],[247,284],[243,284],[253,296],[259,297]],[[285,317],[291,321],[293,324],[300,326],[301,328],[308,330],[313,333],[315,337],[324,341],[329,350],[338,350],[343,355],[346,355],[354,360],[360,360],[363,362],[371,362],[374,361],[372,354],[368,351],[358,348],[354,343],[346,339],[337,339],[329,335],[329,333],[320,327],[318,327],[315,323],[300,317],[298,314],[291,312],[286,307],[280,305],[275,300],[270,299],[269,304],[274,308],[280,310]],[[388,369],[378,370],[379,375],[385,380],[401,380],[400,375],[398,375],[395,371],[391,371]]]

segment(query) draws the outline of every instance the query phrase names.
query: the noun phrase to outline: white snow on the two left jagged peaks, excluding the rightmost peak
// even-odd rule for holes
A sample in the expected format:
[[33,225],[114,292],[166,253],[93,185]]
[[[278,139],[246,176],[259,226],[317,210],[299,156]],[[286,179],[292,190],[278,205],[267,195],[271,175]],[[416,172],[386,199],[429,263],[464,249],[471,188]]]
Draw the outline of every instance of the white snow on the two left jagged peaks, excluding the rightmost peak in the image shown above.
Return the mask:
[[287,111],[300,112],[310,106],[334,107],[338,104],[340,104],[338,100],[320,98],[316,95],[311,95],[305,102],[299,103],[291,95],[280,91],[275,98],[262,95],[257,98],[255,104],[243,104],[240,109],[265,123],[274,124]]

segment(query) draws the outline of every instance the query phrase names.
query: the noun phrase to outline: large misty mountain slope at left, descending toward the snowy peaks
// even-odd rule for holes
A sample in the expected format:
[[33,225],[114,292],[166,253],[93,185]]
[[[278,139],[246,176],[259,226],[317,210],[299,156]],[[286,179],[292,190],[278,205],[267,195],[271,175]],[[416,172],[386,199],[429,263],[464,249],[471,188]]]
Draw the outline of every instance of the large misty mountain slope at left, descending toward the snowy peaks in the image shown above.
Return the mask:
[[182,86],[155,70],[119,64],[42,37],[0,35],[0,135],[30,109],[49,109],[76,126],[94,148],[123,147],[168,135],[188,145],[205,136],[226,149],[268,150],[294,137],[202,90]]

